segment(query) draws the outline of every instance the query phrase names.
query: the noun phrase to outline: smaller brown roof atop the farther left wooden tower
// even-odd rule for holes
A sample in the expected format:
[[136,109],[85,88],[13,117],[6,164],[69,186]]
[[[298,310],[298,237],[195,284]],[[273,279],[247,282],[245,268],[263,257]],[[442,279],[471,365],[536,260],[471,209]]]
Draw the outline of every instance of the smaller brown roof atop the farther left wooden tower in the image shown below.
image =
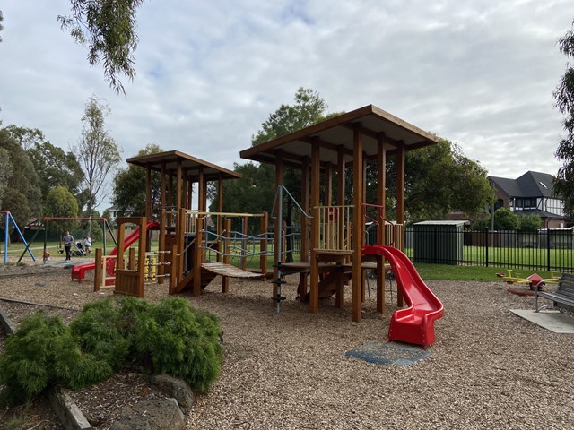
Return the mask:
[[181,161],[185,175],[190,177],[193,182],[197,182],[200,170],[203,170],[205,180],[214,181],[219,179],[239,179],[241,174],[222,168],[203,159],[196,159],[178,150],[169,150],[158,154],[141,155],[126,160],[129,164],[141,166],[142,168],[151,168],[161,172],[161,166],[165,163],[168,171],[178,169],[178,161]]

